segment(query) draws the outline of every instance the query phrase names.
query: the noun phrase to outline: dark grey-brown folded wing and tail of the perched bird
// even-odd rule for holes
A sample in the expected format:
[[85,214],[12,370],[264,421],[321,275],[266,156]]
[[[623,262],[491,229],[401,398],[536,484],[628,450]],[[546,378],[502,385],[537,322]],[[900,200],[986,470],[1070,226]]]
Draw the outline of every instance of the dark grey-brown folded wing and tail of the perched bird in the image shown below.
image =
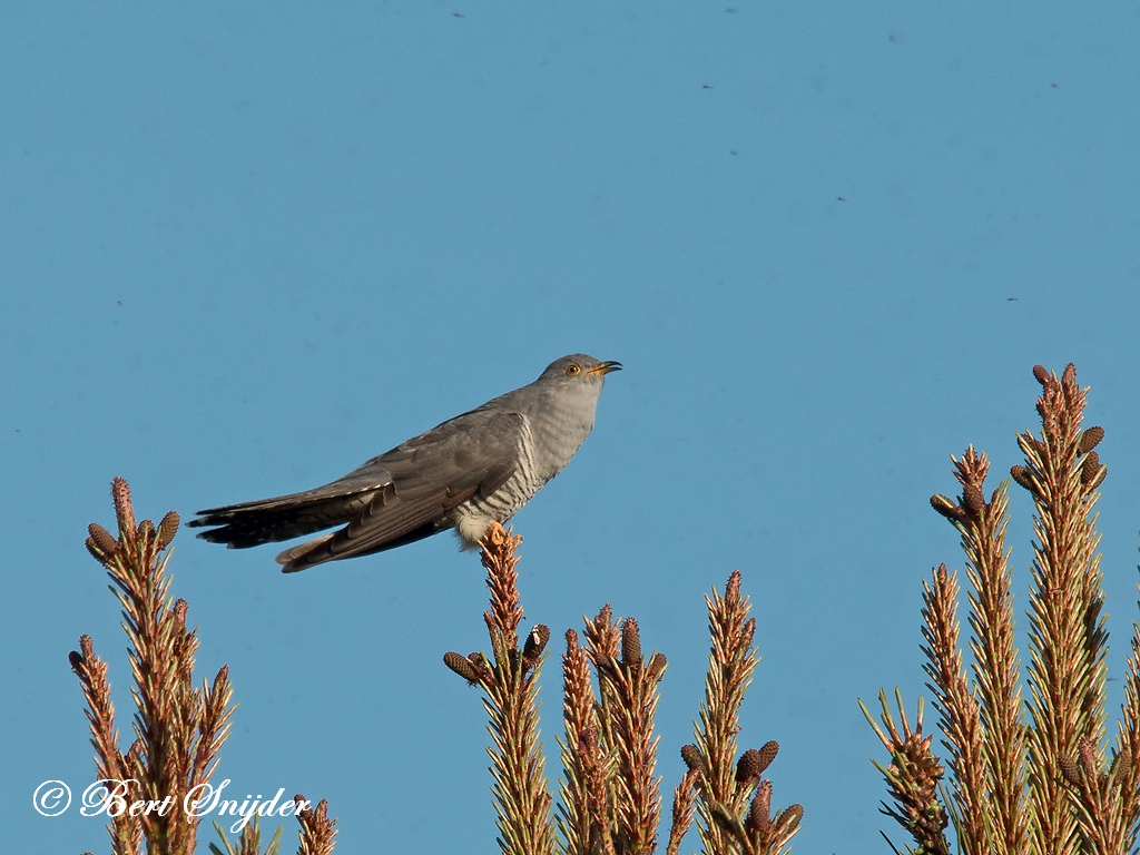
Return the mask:
[[349,523],[282,553],[280,563],[299,564],[286,569],[377,552],[409,532],[433,534],[457,504],[497,489],[515,471],[523,430],[518,413],[475,409],[323,487],[199,511],[190,524],[215,527],[198,536],[242,548]]

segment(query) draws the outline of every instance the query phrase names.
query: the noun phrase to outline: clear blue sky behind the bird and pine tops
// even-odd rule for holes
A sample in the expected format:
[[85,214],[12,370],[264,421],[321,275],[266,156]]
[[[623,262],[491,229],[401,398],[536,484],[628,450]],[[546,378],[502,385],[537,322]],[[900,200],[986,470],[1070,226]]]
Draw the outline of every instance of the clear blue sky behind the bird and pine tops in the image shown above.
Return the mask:
[[[626,369],[515,518],[528,622],[638,619],[670,662],[668,790],[701,597],[740,568],[764,657],[742,740],[781,744],[796,849],[883,850],[856,698],[926,692],[921,579],[961,565],[927,502],[969,442],[999,477],[1018,462],[1035,363],[1075,361],[1107,429],[1121,673],[1137,43],[1134,3],[5,5],[9,845],[106,848],[101,823],[30,803],[92,779],[81,633],[129,727],[82,547],[113,475],[153,519],[303,489],[586,351]],[[1020,491],[1013,512],[1020,609]],[[478,561],[450,536],[292,577],[274,554],[176,540],[199,677],[228,662],[241,703],[220,775],[328,798],[344,852],[494,850],[479,694],[441,663],[487,646]]]

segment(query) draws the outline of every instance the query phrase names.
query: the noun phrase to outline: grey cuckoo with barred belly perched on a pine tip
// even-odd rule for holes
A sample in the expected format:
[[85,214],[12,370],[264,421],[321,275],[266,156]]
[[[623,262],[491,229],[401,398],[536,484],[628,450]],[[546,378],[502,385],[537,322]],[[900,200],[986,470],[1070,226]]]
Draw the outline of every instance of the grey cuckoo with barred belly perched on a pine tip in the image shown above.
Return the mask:
[[[373,457],[324,487],[198,511],[198,537],[231,549],[344,526],[277,556],[292,573],[370,555],[454,528],[479,545],[565,469],[594,427],[604,377],[620,363],[573,353],[500,394]],[[345,524],[347,523],[347,524]]]

